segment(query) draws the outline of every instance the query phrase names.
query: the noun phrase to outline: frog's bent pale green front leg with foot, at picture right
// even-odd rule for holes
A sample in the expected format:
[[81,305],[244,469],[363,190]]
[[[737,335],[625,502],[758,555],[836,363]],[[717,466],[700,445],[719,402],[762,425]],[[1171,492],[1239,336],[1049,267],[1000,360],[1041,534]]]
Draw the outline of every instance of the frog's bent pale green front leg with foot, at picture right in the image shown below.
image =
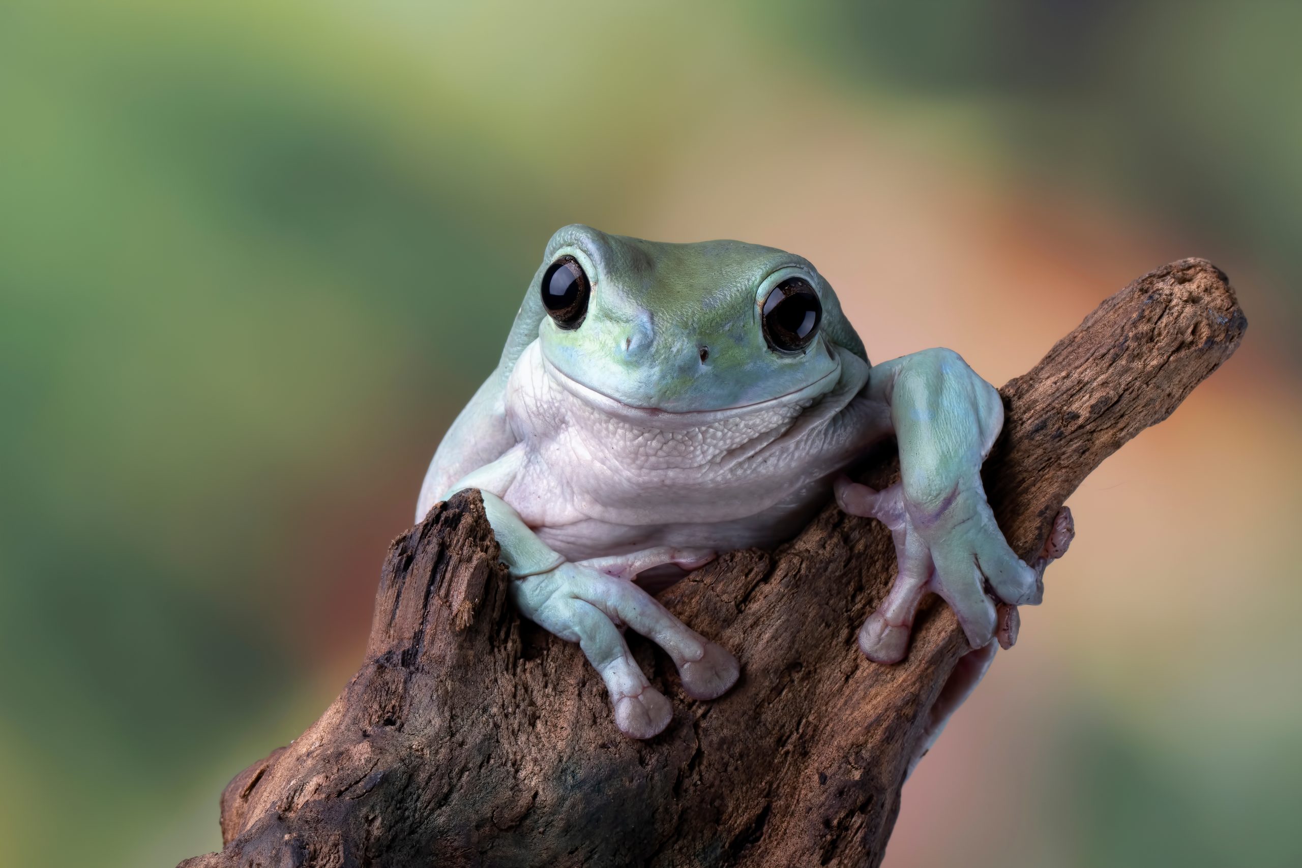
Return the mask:
[[859,647],[878,662],[902,660],[918,604],[934,591],[969,644],[983,648],[995,638],[996,603],[1039,603],[1042,595],[1035,570],[1004,540],[982,488],[982,462],[1004,424],[999,393],[958,354],[926,350],[872,368],[867,397],[889,405],[901,481],[875,492],[841,479],[836,495],[848,513],[891,527],[898,575],[859,631]]

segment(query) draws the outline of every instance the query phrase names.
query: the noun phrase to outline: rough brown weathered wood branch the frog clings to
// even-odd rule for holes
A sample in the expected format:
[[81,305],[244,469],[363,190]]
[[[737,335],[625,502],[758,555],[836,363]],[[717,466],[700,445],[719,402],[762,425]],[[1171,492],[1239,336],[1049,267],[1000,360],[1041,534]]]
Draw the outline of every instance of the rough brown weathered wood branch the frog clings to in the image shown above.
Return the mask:
[[[1185,259],[1107,299],[1003,388],[986,465],[1023,557],[1099,462],[1165,419],[1238,346],[1225,275]],[[861,474],[883,484],[893,457]],[[303,735],[221,796],[225,848],[185,868],[253,865],[876,865],[926,712],[967,651],[940,604],[907,658],[854,634],[894,570],[887,531],[828,506],[773,553],[733,552],[661,595],[741,660],[737,686],[673,700],[647,742],[615,729],[578,648],[521,622],[475,492],[395,540],[366,661]]]

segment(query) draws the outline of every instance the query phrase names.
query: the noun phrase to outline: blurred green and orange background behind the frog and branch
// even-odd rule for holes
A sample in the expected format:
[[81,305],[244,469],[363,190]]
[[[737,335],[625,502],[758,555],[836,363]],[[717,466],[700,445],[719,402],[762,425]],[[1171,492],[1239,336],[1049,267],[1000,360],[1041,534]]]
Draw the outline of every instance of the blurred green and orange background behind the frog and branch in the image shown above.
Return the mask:
[[1172,259],[1243,349],[904,791],[889,868],[1298,865],[1302,5],[0,7],[0,864],[172,865],[355,670],[548,236],[811,259],[993,383]]

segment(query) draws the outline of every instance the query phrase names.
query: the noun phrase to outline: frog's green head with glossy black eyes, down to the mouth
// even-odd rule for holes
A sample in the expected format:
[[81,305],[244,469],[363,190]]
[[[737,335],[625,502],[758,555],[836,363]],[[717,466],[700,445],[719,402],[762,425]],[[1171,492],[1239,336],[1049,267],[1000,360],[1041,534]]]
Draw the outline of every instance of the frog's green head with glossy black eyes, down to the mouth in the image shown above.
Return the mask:
[[572,225],[552,236],[530,293],[547,314],[548,372],[642,422],[809,400],[836,385],[837,347],[863,357],[827,281],[772,247],[658,243]]

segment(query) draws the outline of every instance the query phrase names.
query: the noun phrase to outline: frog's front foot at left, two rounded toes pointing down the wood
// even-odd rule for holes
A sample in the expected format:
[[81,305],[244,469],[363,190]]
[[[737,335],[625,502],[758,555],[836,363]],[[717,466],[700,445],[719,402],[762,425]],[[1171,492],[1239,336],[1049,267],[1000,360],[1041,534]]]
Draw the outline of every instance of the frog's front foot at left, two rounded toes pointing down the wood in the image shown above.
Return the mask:
[[579,643],[589,662],[602,674],[615,722],[626,735],[651,738],[669,724],[673,709],[633,658],[620,631],[622,625],[669,655],[684,691],[693,699],[715,699],[737,681],[736,657],[626,579],[566,562],[549,573],[518,579],[512,588],[525,617]]

